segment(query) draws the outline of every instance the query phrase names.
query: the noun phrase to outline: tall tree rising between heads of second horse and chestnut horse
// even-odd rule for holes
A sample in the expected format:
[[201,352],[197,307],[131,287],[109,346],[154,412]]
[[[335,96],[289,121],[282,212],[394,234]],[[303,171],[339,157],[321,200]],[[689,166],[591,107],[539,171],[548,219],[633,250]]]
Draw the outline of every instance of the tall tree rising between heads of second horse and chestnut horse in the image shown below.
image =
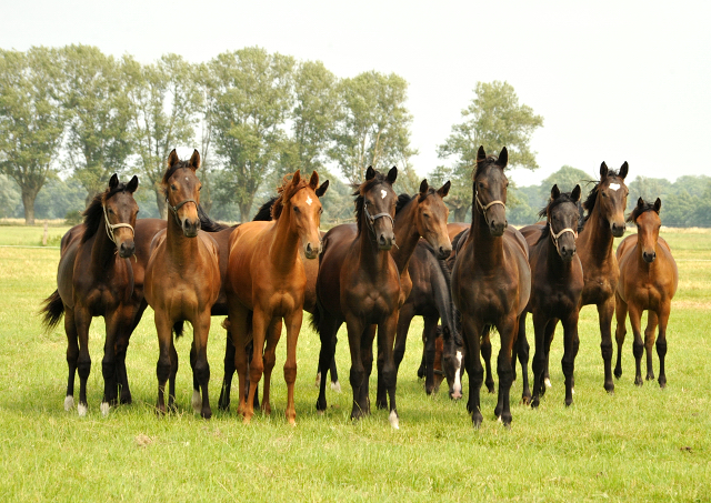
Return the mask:
[[224,161],[224,181],[240,218],[247,221],[254,194],[284,145],[294,60],[254,47],[223,52],[208,64],[216,151]]

